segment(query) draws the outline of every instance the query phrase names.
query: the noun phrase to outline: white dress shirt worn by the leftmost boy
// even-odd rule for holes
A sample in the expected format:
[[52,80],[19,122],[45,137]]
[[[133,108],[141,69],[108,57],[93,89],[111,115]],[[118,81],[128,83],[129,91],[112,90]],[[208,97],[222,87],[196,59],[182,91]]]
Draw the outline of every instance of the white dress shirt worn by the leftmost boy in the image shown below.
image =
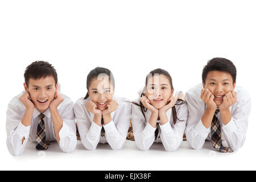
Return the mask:
[[[28,139],[32,142],[36,142],[36,130],[38,127],[40,112],[34,108],[32,114],[31,125],[24,126],[22,124],[23,115],[26,112],[26,107],[20,102],[19,97],[22,96],[20,93],[18,96],[14,97],[7,109],[6,118],[6,131],[7,131],[7,148],[11,155],[22,154],[24,148],[26,147]],[[59,132],[60,142],[59,146],[64,152],[71,152],[76,147],[76,125],[75,125],[75,115],[73,113],[73,101],[61,93],[64,97],[64,101],[57,107],[57,111],[60,117],[63,119],[63,126]],[[44,113],[43,118],[44,124],[46,126],[46,141],[55,141],[55,132],[53,129],[52,117],[49,109]],[[22,143],[22,138],[25,138]],[[51,146],[49,146],[51,148]]]

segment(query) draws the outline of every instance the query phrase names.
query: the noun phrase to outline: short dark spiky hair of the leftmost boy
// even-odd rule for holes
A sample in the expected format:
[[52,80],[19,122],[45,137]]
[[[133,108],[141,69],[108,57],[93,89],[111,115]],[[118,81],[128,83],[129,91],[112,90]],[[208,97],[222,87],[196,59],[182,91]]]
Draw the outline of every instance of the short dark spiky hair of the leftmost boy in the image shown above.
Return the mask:
[[56,69],[47,61],[34,61],[26,68],[24,78],[28,87],[28,81],[30,78],[38,80],[40,78],[46,78],[52,76],[55,80],[55,86],[58,82]]

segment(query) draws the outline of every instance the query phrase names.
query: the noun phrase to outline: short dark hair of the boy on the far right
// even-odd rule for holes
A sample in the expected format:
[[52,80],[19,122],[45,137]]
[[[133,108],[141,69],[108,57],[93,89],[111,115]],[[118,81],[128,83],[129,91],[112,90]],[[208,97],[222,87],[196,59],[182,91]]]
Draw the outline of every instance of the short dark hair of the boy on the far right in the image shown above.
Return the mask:
[[221,71],[221,72],[228,72],[233,78],[233,84],[236,82],[237,77],[237,69],[232,61],[221,58],[221,57],[214,57],[213,59],[209,60],[207,65],[205,65],[202,73],[202,80],[205,84],[205,79],[207,78],[207,74],[210,71]]

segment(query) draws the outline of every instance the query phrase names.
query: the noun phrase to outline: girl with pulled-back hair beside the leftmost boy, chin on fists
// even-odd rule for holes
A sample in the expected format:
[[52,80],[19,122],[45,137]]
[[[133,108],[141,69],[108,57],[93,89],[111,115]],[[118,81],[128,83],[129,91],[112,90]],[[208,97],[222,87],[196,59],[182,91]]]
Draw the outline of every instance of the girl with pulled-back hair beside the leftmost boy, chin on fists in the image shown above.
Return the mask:
[[115,82],[109,69],[97,67],[90,71],[86,88],[86,96],[74,106],[82,144],[88,150],[95,150],[98,143],[121,149],[129,128],[131,104],[114,95]]

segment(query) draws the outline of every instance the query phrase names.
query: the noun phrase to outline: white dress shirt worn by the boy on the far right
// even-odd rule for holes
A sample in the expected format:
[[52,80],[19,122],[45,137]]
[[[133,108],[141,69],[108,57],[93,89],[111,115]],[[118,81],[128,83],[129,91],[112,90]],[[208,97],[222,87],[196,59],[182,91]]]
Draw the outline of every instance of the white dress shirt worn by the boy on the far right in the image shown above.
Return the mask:
[[[205,139],[211,140],[210,127],[207,129],[201,121],[207,109],[207,105],[200,98],[202,89],[203,85],[199,84],[189,89],[185,94],[185,101],[187,101],[188,105],[188,121],[185,135],[188,143],[195,149],[202,148]],[[224,125],[220,113],[217,114],[217,117],[220,120],[222,145],[238,150],[245,142],[251,99],[249,93],[241,86],[236,86],[234,91],[237,92],[237,102],[229,107],[232,119],[228,124]]]

